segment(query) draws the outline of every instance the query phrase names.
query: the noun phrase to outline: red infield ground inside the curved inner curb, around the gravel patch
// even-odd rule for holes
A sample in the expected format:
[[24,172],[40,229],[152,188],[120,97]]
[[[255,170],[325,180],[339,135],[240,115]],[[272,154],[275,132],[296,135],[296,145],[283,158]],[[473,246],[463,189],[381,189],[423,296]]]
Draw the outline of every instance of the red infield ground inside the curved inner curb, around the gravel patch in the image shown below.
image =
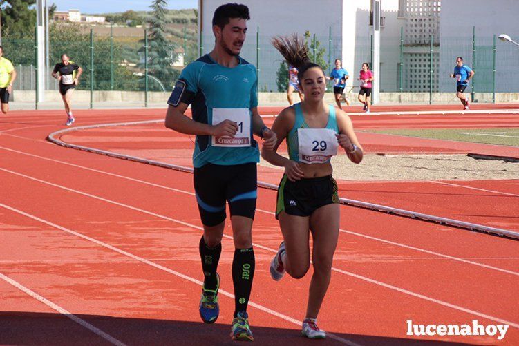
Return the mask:
[[[507,116],[503,115],[503,117]],[[356,119],[354,118],[354,122]],[[496,119],[499,119],[498,115]],[[453,121],[460,122],[460,119],[453,119]],[[378,120],[372,119],[371,122],[378,122]],[[466,118],[464,122],[468,124],[471,119]],[[402,126],[404,124],[402,123]],[[66,133],[60,138],[70,144],[100,148],[181,166],[191,166],[191,148],[194,140],[193,136],[169,131],[161,123],[91,128]],[[387,135],[359,133],[359,140],[364,144],[367,153],[480,153],[519,157],[519,148],[511,146],[402,136],[390,136],[390,141],[387,138]],[[431,142],[434,145],[430,145]],[[509,165],[510,169],[515,169],[517,164]],[[261,180],[264,182],[277,184],[281,180],[282,171],[279,169],[260,167],[260,172]],[[519,231],[519,182],[517,180],[478,180],[477,182],[343,180],[339,181],[339,191],[343,198]]]

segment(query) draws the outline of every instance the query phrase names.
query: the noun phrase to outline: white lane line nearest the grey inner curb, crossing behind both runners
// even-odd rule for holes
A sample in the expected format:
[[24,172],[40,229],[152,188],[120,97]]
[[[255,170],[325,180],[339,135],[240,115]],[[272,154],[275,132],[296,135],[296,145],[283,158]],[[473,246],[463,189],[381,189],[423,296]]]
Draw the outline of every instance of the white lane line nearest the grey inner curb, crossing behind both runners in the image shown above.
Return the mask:
[[[184,190],[180,190],[180,189],[173,189],[173,188],[171,188],[169,186],[163,186],[163,185],[160,185],[160,184],[153,184],[151,182],[146,182],[144,180],[138,180],[138,179],[134,179],[134,178],[131,178],[131,177],[126,177],[124,175],[118,175],[118,174],[114,174],[114,173],[100,171],[100,170],[97,170],[97,169],[91,169],[89,167],[79,166],[77,164],[70,164],[68,162],[54,160],[54,159],[50,159],[48,157],[42,157],[42,156],[39,156],[39,155],[30,154],[30,153],[23,153],[21,151],[16,151],[14,149],[4,148],[3,146],[0,146],[0,149],[6,150],[6,151],[12,151],[12,152],[15,152],[15,153],[20,153],[20,154],[28,155],[28,156],[32,156],[32,157],[37,157],[37,158],[42,159],[42,160],[48,160],[48,161],[51,161],[51,162],[57,162],[57,163],[60,163],[60,164],[65,164],[65,165],[68,165],[68,166],[77,167],[79,169],[86,169],[87,171],[94,171],[96,173],[102,173],[102,174],[106,174],[106,175],[111,175],[111,176],[119,177],[119,178],[122,178],[122,179],[125,179],[125,180],[130,180],[132,182],[139,182],[141,184],[158,187],[160,189],[166,189],[166,190],[175,191],[175,192],[178,192],[178,193],[185,193],[187,195],[193,195],[193,196],[195,195],[194,193],[189,192],[189,191],[184,191]],[[267,211],[267,210],[263,210],[263,209],[257,209],[256,208],[256,211],[259,211],[261,213],[265,213],[265,214],[268,214],[268,215],[275,215],[275,213],[273,213],[272,211]],[[193,227],[196,227],[196,226],[193,226]],[[199,228],[199,229],[201,229],[201,228]],[[509,271],[507,269],[502,269],[502,268],[499,268],[499,267],[493,267],[493,266],[490,266],[490,265],[484,265],[484,264],[482,264],[480,262],[473,262],[471,260],[466,260],[466,259],[463,259],[463,258],[457,258],[457,257],[454,257],[454,256],[445,255],[444,253],[439,253],[439,252],[435,252],[435,251],[429,251],[429,250],[421,249],[421,248],[418,248],[418,247],[412,247],[412,246],[409,246],[409,245],[406,245],[406,244],[402,244],[402,243],[399,243],[399,242],[392,242],[390,240],[384,240],[384,239],[381,239],[381,238],[375,238],[375,237],[367,236],[367,235],[364,235],[364,234],[361,234],[361,233],[355,233],[355,232],[352,232],[352,231],[346,231],[345,229],[339,229],[339,231],[341,231],[343,233],[349,233],[349,234],[352,234],[354,236],[368,238],[370,240],[376,240],[378,242],[385,242],[386,244],[393,244],[393,245],[395,245],[397,247],[404,247],[406,249],[412,249],[412,250],[415,250],[415,251],[429,253],[431,255],[439,256],[439,257],[442,257],[442,258],[448,258],[449,260],[456,260],[456,261],[459,261],[459,262],[467,263],[469,265],[475,265],[475,266],[478,266],[478,267],[483,267],[483,268],[487,268],[487,269],[491,269],[491,270],[496,270],[496,271],[501,271],[503,273],[509,273],[509,274],[512,274],[512,275],[519,276],[519,273],[516,272],[516,271]],[[229,239],[230,238],[232,238],[232,237],[229,236]]]

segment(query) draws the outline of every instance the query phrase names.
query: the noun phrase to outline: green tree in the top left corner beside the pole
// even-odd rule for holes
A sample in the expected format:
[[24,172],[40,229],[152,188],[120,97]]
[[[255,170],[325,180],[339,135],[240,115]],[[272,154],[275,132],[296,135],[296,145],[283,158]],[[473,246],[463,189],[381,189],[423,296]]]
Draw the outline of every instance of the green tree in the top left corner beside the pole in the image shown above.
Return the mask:
[[34,37],[36,0],[1,0],[2,37],[23,39]]

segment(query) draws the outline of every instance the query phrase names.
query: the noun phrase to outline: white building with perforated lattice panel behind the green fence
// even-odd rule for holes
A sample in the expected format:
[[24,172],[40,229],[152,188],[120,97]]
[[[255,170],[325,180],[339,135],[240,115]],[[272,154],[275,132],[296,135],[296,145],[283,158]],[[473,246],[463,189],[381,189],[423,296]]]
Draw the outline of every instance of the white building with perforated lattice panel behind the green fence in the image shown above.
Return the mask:
[[[202,54],[214,47],[211,19],[214,10],[227,0],[198,0],[198,23],[202,30]],[[249,7],[251,20],[242,56],[260,70],[260,90],[276,91],[276,72],[281,55],[270,44],[275,35],[297,32],[310,38],[316,35],[324,59],[343,60],[350,83],[361,64],[372,59],[370,10],[371,0],[240,0]],[[428,92],[431,73],[430,43],[433,37],[433,91],[452,91],[449,79],[455,57],[466,64],[472,61],[472,28],[475,26],[475,87],[488,91],[491,87],[492,37],[507,33],[519,38],[519,0],[382,0],[380,90]],[[258,47],[256,32],[259,30]],[[400,32],[403,30],[402,64]],[[331,38],[331,40],[330,40]],[[259,49],[256,49],[259,48]],[[519,49],[510,43],[497,42],[496,90],[519,90],[519,79],[507,74],[519,70]],[[479,58],[479,61],[478,61]],[[403,81],[400,83],[400,71]],[[375,76],[377,77],[377,76]],[[506,83],[500,82],[506,80]],[[479,84],[478,84],[479,83]]]

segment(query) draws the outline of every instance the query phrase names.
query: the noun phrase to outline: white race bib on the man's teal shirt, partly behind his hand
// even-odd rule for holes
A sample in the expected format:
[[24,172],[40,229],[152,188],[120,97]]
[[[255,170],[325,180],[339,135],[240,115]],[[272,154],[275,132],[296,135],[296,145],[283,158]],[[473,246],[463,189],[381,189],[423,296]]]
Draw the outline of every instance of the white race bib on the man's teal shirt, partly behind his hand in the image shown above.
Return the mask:
[[213,125],[224,120],[231,120],[238,124],[238,131],[234,137],[211,137],[212,146],[240,147],[250,146],[250,110],[249,108],[213,108]]

